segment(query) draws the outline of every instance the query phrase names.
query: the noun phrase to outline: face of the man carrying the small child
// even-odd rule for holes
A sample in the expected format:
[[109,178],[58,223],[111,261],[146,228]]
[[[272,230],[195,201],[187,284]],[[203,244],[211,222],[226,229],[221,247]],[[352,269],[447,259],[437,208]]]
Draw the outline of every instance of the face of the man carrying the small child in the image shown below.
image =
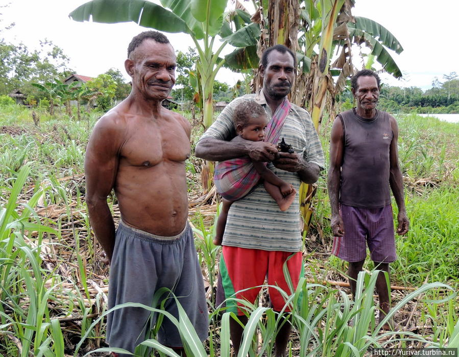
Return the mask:
[[276,50],[268,55],[266,68],[260,67],[263,76],[263,91],[272,99],[282,99],[292,88],[295,79],[295,67],[291,54]]

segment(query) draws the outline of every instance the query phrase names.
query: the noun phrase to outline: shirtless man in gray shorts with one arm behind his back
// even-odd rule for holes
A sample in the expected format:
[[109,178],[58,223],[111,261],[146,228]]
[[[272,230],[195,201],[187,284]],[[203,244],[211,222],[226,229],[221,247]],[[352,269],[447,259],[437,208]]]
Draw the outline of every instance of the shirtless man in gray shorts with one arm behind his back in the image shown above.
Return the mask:
[[[190,125],[161,105],[175,83],[175,67],[174,49],[161,33],[142,32],[132,39],[125,61],[131,93],[101,117],[89,138],[86,202],[95,236],[110,263],[109,308],[125,302],[151,306],[154,293],[166,287],[205,340],[204,284],[187,223]],[[116,232],[107,204],[112,189],[122,218]],[[167,299],[164,309],[178,318],[175,299]],[[134,352],[150,335],[145,328],[149,317],[149,311],[138,307],[109,314],[110,347]],[[157,338],[177,350],[183,346],[167,318]]]

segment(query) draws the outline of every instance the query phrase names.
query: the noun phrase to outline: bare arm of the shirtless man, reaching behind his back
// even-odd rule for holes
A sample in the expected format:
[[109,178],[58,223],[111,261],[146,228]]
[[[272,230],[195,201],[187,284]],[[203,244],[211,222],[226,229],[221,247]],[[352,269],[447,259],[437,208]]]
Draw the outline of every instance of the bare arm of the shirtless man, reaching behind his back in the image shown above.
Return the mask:
[[107,196],[115,182],[119,150],[119,131],[113,126],[109,117],[101,118],[95,125],[84,161],[89,220],[109,261],[115,245],[115,225]]

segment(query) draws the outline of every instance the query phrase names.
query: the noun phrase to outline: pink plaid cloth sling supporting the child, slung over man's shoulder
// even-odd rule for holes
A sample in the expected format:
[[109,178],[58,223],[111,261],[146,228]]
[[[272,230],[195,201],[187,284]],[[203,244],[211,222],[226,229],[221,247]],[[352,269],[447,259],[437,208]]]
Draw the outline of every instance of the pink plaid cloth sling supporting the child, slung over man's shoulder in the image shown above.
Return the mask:
[[[264,141],[277,144],[289,110],[290,102],[285,97],[267,125],[267,135]],[[216,190],[223,198],[229,201],[235,201],[246,196],[258,183],[259,179],[260,174],[255,170],[249,157],[234,158],[215,165],[213,181]]]

